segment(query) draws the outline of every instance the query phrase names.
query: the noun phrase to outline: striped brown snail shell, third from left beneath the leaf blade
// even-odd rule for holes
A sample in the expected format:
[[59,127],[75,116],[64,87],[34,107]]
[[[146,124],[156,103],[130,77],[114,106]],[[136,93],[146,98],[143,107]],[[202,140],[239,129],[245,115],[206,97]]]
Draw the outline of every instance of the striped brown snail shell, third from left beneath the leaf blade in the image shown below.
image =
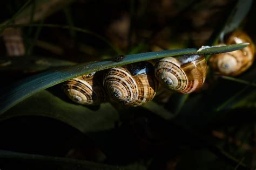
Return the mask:
[[154,66],[156,78],[170,90],[191,93],[205,81],[207,64],[202,55],[183,55],[179,58],[167,57]]

